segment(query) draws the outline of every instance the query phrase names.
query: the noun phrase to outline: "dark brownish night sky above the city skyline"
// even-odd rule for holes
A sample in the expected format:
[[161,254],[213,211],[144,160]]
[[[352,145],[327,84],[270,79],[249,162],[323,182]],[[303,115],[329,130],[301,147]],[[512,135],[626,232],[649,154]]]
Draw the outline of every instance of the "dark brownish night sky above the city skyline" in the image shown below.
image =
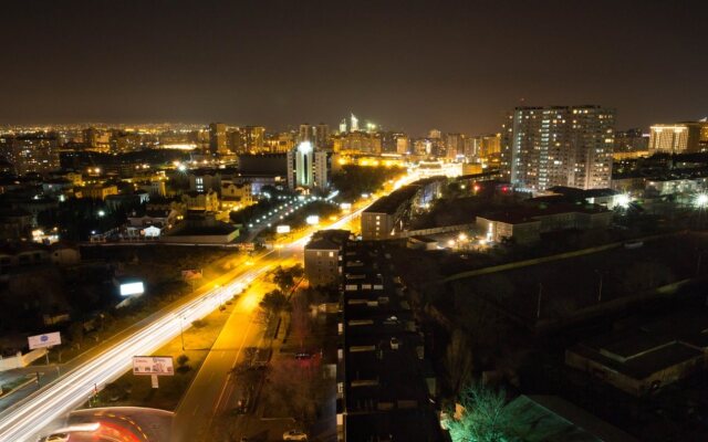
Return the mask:
[[[708,1],[3,1],[0,124],[499,130],[519,104],[617,128],[708,116]],[[523,99],[523,101],[522,101]]]

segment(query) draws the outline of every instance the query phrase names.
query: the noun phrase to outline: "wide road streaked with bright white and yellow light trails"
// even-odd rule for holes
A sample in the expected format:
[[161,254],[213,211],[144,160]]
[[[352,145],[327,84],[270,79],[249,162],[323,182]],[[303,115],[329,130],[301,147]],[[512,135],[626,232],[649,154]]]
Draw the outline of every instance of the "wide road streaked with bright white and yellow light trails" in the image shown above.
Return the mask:
[[[362,209],[363,210],[363,209]],[[331,227],[337,228],[356,218],[361,210],[342,217]],[[197,293],[149,317],[149,324],[126,332],[110,346],[91,352],[80,367],[30,394],[0,414],[0,441],[33,441],[46,433],[45,428],[84,403],[95,388],[118,378],[131,368],[135,355],[150,355],[180,333],[180,327],[202,318],[218,308],[225,297],[240,293],[243,287],[281,262],[302,253],[308,241],[303,236],[278,251],[253,259],[253,265],[228,272],[218,282],[221,287]]]

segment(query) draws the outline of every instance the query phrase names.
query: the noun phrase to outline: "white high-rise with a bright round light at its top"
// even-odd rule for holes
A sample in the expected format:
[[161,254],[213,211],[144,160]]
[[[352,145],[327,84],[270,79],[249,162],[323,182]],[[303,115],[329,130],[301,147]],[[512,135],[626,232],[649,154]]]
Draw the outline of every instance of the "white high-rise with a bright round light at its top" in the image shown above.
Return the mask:
[[315,150],[312,143],[300,143],[288,151],[288,187],[326,190],[327,160],[327,152]]

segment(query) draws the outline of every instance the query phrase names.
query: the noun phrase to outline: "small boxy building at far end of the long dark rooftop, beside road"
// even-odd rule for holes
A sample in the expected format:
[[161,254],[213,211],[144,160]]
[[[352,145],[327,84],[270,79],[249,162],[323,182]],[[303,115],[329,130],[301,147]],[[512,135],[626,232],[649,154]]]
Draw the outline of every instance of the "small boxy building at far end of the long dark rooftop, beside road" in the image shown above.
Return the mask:
[[315,232],[304,248],[305,277],[310,285],[336,285],[342,277],[342,251],[348,230]]

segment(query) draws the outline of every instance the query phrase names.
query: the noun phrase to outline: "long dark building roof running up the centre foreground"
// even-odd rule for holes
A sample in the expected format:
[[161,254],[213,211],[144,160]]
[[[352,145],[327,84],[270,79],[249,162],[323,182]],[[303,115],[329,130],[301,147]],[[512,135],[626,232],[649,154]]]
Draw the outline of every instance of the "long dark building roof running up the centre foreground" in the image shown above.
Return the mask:
[[350,241],[342,256],[337,440],[446,440],[437,380],[410,299],[382,243]]

